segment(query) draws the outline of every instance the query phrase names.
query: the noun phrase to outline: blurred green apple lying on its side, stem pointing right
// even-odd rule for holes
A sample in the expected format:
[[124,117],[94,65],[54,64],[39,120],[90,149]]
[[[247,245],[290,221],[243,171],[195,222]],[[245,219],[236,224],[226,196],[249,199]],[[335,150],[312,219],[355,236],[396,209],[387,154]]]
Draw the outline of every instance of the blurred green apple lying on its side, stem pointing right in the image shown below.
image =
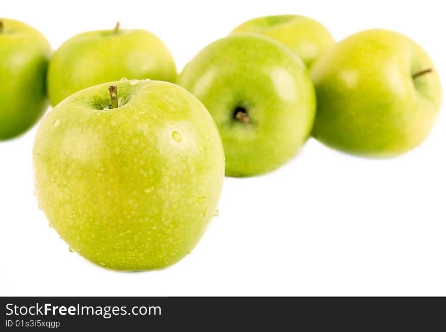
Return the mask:
[[311,75],[318,105],[313,136],[346,152],[388,157],[411,150],[428,136],[440,108],[434,64],[397,32],[347,37]]

